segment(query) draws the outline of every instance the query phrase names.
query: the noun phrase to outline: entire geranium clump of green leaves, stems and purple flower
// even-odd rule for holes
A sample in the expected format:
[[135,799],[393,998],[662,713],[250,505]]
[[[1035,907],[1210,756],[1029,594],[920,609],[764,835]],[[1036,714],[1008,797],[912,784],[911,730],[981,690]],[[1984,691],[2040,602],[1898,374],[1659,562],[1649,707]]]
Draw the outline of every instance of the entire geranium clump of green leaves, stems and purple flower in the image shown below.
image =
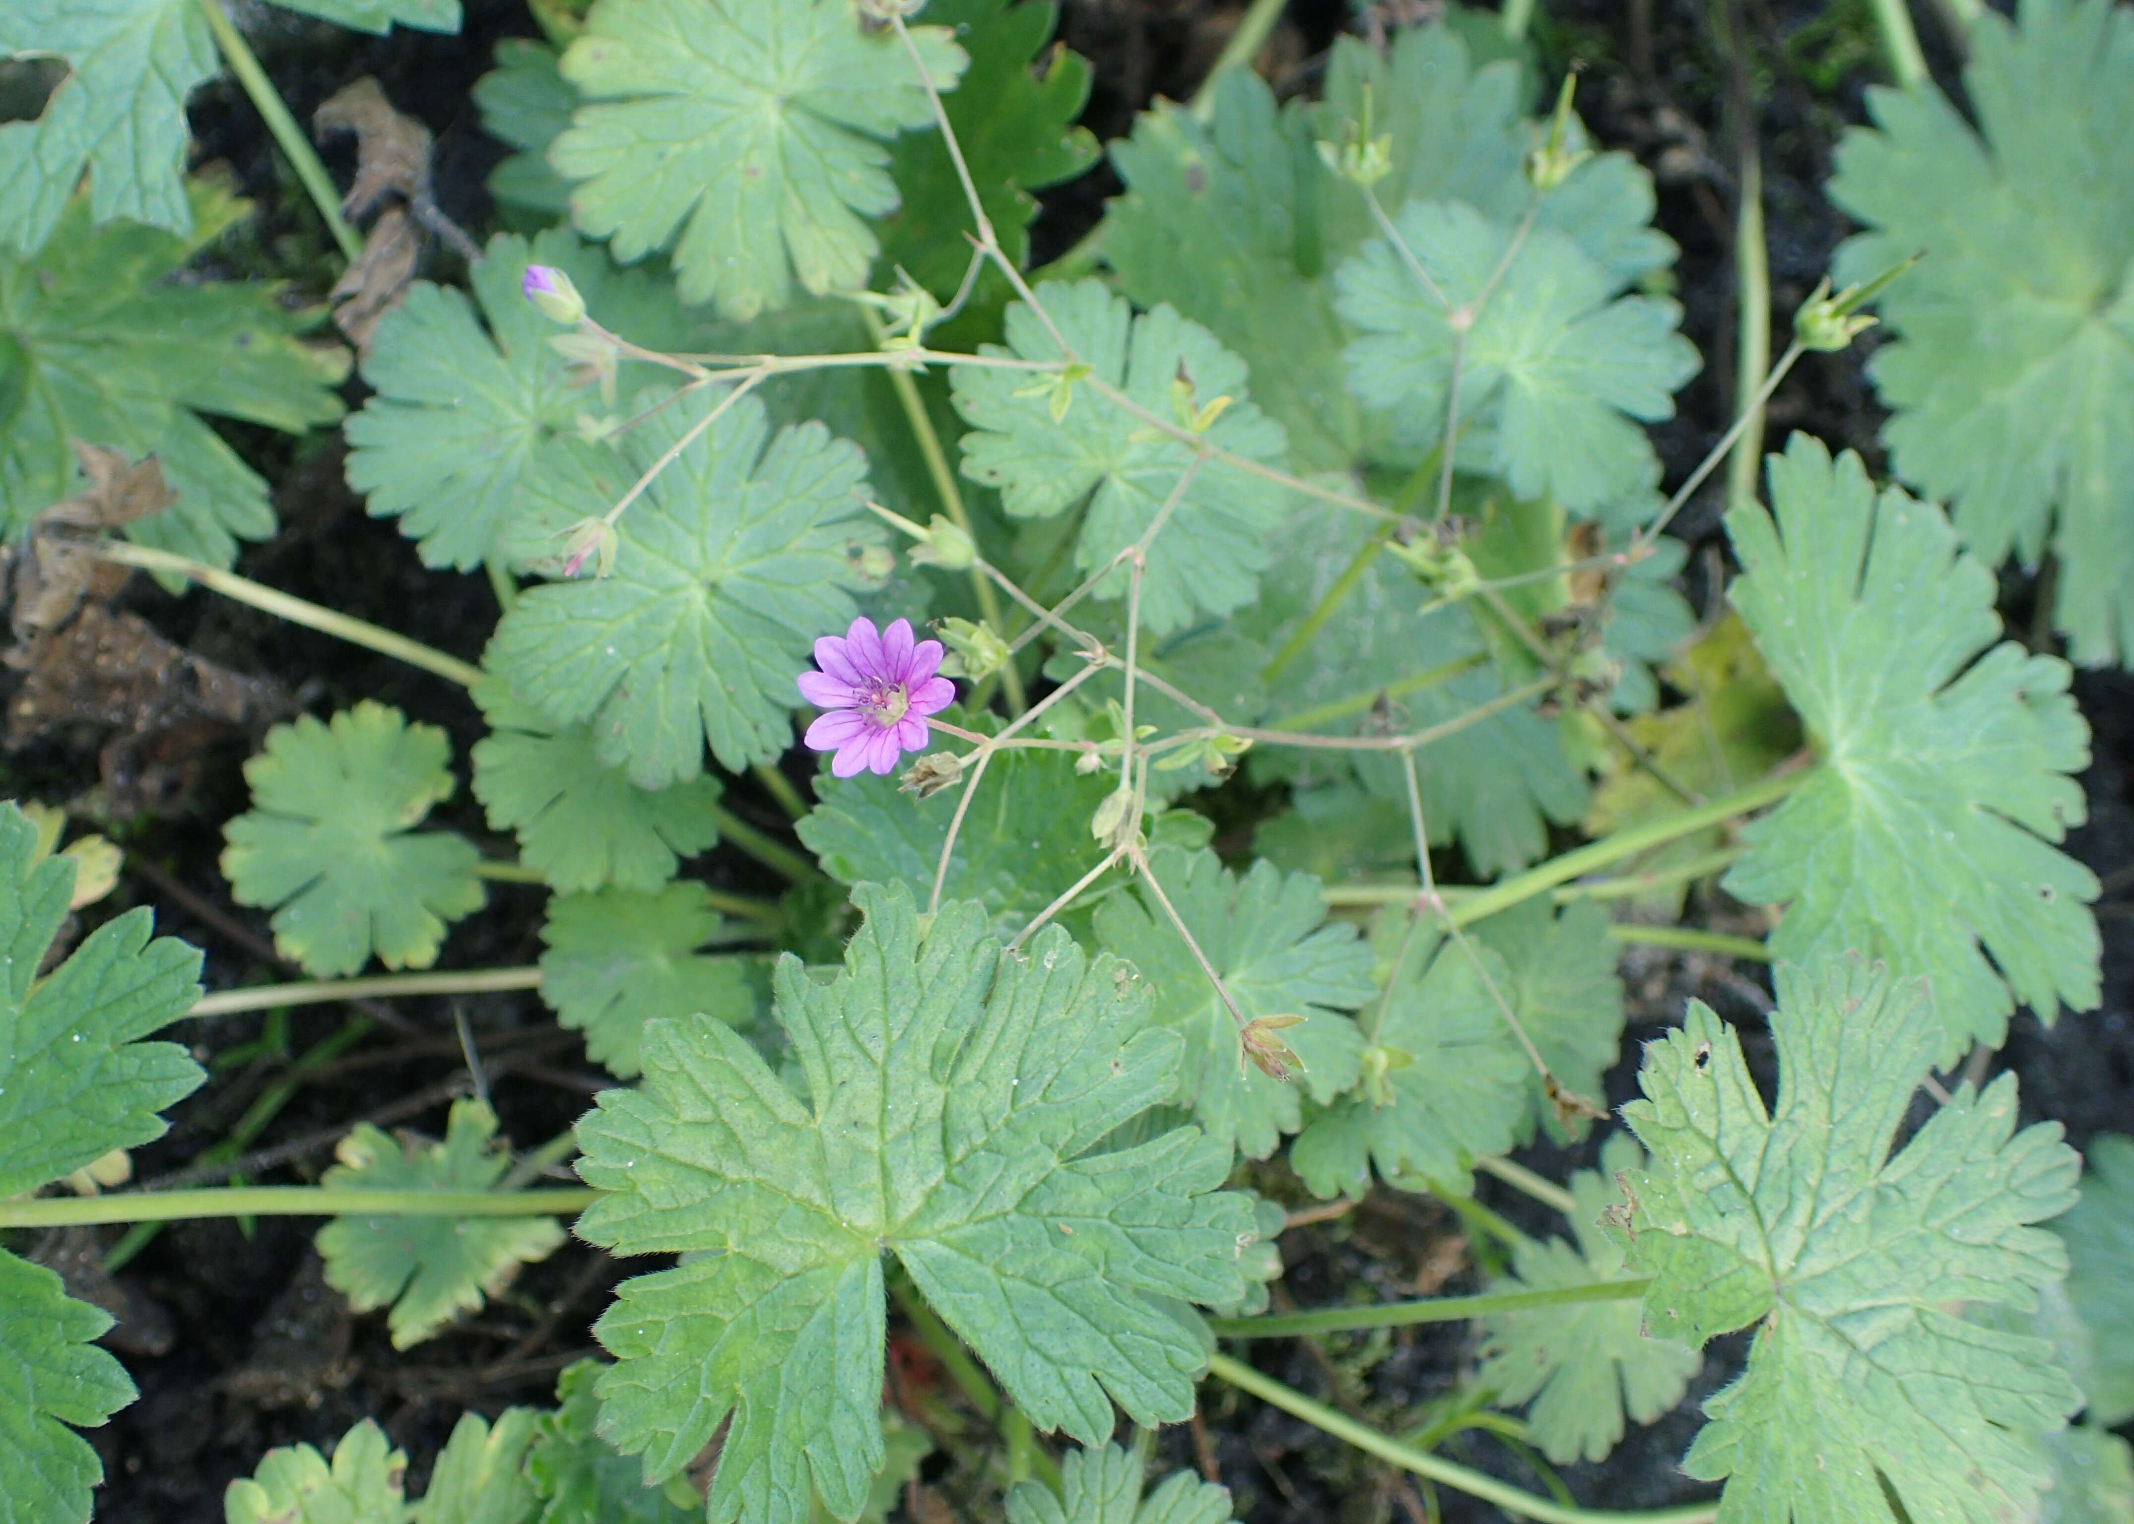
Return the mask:
[[[1665,529],[1705,470],[1662,502],[1647,433],[1701,363],[1675,248],[1571,85],[1530,113],[1494,21],[1344,36],[1315,98],[1223,68],[1108,147],[1122,192],[1031,271],[1033,192],[1095,156],[1050,4],[536,13],[555,45],[476,92],[512,231],[403,282],[346,423],[314,312],[179,275],[241,216],[177,164],[216,49],[250,58],[218,0],[0,17],[0,53],[70,68],[0,126],[17,636],[134,566],[446,679],[478,736],[371,696],[265,730],[220,867],[314,980],[267,993],[203,999],[147,909],[75,939],[100,858],[0,811],[0,1232],[320,1217],[327,1281],[401,1349],[566,1251],[561,1219],[572,1253],[657,1257],[615,1279],[608,1360],[461,1417],[418,1496],[365,1419],[260,1458],[233,1524],[888,1520],[941,1464],[1012,1524],[1221,1524],[1221,1486],[1150,1479],[1201,1381],[1607,1520],[1440,1449],[1603,1460],[1737,1330],[1682,1462],[1720,1492],[1669,1520],[2134,1515],[2106,1428],[2134,1153],[2093,1142],[2079,1185],[2012,1076],[1933,1078],[2100,1001],[2102,884],[2061,850],[2089,734],[1993,570],[2051,546],[2074,657],[2134,647],[2125,134],[2083,115],[2128,115],[2123,11],[1980,19],[1978,132],[1876,100],[1833,188],[1869,231],[1778,374],[1882,301],[1925,497],[1795,433],[1724,517],[1703,623]],[[1946,256],[1891,284],[1914,243]],[[489,578],[478,662],[230,574],[275,525],[205,416],[341,423],[435,587]],[[79,446],[166,499],[96,517]],[[548,894],[540,965],[433,971],[489,884]],[[1690,886],[1756,935],[1611,914]],[[1637,941],[1775,965],[1769,1099],[1692,1001],[1609,1116]],[[154,1039],[188,1014],[536,988],[612,1076],[546,1144],[480,1097],[437,1140],[352,1123],[312,1187],[111,1189],[203,1080]],[[1534,1140],[1598,1170],[1545,1180]],[[1291,1212],[1374,1191],[1445,1202],[1487,1285],[1270,1313]],[[1406,1439],[1242,1360],[1447,1315],[1475,1360]],[[90,1515],[79,1430],[132,1398],[107,1323],[0,1249],[0,1524]],[[886,1402],[892,1336],[975,1424]]]

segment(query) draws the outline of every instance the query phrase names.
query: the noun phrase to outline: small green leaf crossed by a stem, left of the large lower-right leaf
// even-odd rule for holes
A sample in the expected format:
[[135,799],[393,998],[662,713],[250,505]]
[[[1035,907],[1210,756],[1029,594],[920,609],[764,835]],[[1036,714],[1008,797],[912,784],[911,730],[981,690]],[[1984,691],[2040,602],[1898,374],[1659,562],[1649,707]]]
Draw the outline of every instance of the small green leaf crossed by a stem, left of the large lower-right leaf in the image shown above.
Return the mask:
[[[1492,1291],[1594,1285],[1624,1274],[1622,1242],[1600,1227],[1600,1215],[1622,1206],[1615,1176],[1645,1163],[1628,1133],[1600,1146],[1600,1168],[1571,1176],[1571,1232],[1562,1238],[1522,1242],[1513,1274]],[[1496,1392],[1500,1407],[1528,1409],[1541,1454],[1558,1466],[1605,1460],[1622,1441],[1624,1413],[1650,1424],[1677,1402],[1703,1355],[1671,1338],[1647,1338],[1643,1306],[1628,1302],[1571,1302],[1483,1319],[1481,1368],[1475,1379]]]

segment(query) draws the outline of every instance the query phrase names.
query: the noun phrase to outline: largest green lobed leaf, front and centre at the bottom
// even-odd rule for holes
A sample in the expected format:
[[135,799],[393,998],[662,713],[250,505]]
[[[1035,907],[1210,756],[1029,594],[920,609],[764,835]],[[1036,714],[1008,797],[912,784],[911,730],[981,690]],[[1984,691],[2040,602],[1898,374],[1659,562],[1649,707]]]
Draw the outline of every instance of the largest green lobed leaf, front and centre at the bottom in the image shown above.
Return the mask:
[[[617,1253],[700,1253],[627,1281],[595,1334],[602,1432],[649,1479],[726,1424],[708,1518],[854,1515],[881,1464],[883,1279],[920,1293],[1039,1428],[1084,1443],[1180,1419],[1206,1353],[1176,1302],[1246,1293],[1255,1206],[1229,1150],[1182,1127],[1095,1150],[1169,1097],[1178,1039],[1058,926],[1003,958],[984,907],[930,918],[856,892],[866,924],[828,984],[798,958],[777,1012],[809,1099],[721,1025],[651,1022],[644,1084],[580,1123],[608,1191],[578,1232]],[[708,1251],[708,1253],[704,1253]]]

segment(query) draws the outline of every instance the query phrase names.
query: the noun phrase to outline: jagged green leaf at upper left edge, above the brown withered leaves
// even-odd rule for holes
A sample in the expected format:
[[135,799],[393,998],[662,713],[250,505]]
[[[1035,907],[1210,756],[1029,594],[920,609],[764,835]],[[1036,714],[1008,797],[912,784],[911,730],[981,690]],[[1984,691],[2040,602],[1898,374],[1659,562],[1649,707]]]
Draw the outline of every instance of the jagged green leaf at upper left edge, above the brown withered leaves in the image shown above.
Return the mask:
[[162,465],[175,502],[128,523],[130,540],[230,566],[237,542],[265,540],[275,519],[267,482],[207,416],[282,433],[341,416],[329,388],[348,371],[346,350],[299,337],[322,309],[288,307],[273,282],[181,280],[245,213],[207,181],[186,194],[190,237],[92,226],[90,201],[75,196],[34,252],[0,245],[0,529],[11,538],[81,489],[81,440]]

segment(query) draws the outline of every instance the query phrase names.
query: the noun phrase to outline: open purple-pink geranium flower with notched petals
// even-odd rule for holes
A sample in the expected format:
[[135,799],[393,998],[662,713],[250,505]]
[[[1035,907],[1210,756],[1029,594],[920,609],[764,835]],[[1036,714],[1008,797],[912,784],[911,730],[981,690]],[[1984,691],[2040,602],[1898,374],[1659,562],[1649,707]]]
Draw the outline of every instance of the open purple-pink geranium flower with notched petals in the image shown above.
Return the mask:
[[924,749],[926,715],[956,698],[956,685],[935,677],[941,642],[913,642],[909,619],[881,632],[873,619],[854,619],[843,638],[815,642],[815,666],[800,674],[800,696],[830,713],[807,728],[807,743],[837,751],[837,777],[888,773],[901,753]]

